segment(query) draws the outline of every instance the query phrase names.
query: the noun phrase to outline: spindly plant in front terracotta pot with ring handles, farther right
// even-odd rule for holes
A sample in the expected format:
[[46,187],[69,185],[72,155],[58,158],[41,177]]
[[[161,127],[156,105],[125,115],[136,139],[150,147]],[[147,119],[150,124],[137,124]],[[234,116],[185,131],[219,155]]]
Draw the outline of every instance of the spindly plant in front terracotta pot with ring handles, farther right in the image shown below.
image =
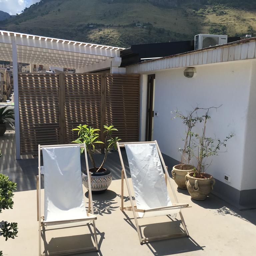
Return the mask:
[[206,169],[212,163],[212,161],[206,163],[206,160],[208,157],[217,156],[220,152],[226,152],[221,151],[221,148],[226,147],[227,140],[234,136],[233,133],[230,133],[224,140],[206,137],[206,123],[210,119],[208,115],[209,109],[207,109],[206,114],[203,116],[204,125],[202,135],[198,133],[193,134],[193,148],[195,150],[191,152],[197,161],[197,167],[186,175],[187,190],[191,198],[200,201],[206,199],[215,184],[215,179],[212,175],[205,173]]

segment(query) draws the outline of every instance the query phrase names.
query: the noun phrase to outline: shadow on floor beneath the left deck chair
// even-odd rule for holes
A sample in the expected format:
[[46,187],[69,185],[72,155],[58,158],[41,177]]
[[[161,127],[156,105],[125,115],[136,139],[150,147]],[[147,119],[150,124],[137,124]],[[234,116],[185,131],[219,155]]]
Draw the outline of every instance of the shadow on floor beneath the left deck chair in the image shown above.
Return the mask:
[[[81,249],[81,248],[87,248],[87,247],[94,247],[94,233],[93,233],[93,227],[92,224],[87,224],[86,226],[83,226],[85,232],[88,232],[87,227],[89,228],[89,234],[80,234],[80,235],[71,235],[71,236],[61,236],[61,237],[52,237],[49,243],[46,241],[46,235],[45,231],[47,232],[48,230],[43,230],[41,231],[41,238],[43,240],[44,244],[44,250],[43,253],[47,255],[51,255],[53,252],[59,252],[59,251],[68,251],[68,250],[74,250],[74,249]],[[81,228],[81,227],[80,227]],[[49,229],[49,231],[54,230],[54,229]],[[68,230],[68,228],[66,229]],[[68,232],[68,231],[67,231]],[[63,231],[62,231],[63,233]],[[61,233],[61,234],[62,234]],[[96,233],[97,233],[97,238],[98,238],[98,248],[99,251],[92,251],[92,252],[86,252],[87,256],[102,256],[102,253],[100,251],[100,246],[102,244],[102,241],[104,239],[105,233],[100,231],[96,228]],[[60,234],[60,233],[58,233]],[[79,254],[76,253],[77,256],[79,255],[84,255],[85,253],[81,252]]]

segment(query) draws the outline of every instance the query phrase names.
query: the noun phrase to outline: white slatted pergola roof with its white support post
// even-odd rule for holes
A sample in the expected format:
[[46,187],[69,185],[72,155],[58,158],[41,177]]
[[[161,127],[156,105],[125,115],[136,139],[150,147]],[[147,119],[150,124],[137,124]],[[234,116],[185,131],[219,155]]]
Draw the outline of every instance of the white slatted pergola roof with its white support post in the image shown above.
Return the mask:
[[69,67],[77,73],[109,69],[123,73],[124,48],[0,30],[0,60],[13,62],[16,159],[20,159],[18,67],[15,63]]

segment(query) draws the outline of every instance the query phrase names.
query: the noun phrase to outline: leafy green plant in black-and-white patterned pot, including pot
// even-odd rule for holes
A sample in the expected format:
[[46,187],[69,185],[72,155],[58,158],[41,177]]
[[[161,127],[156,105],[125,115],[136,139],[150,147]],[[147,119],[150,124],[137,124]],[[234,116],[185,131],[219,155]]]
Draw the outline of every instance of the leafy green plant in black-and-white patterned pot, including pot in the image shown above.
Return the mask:
[[[116,128],[114,128],[113,125],[107,126],[104,125],[104,134],[106,134],[105,143],[99,140],[99,131],[100,129],[94,129],[91,126],[88,125],[79,125],[77,128],[73,129],[72,131],[78,131],[78,139],[72,141],[74,143],[85,143],[86,144],[86,150],[88,152],[89,158],[91,160],[91,163],[93,165],[93,168],[90,168],[89,171],[91,173],[91,188],[92,191],[101,193],[107,190],[109,185],[112,181],[112,175],[111,171],[105,169],[103,166],[105,164],[105,161],[107,159],[107,155],[109,151],[114,147],[116,149],[116,142],[121,140],[118,137],[112,138],[112,132],[118,131]],[[94,160],[94,151],[95,151],[95,144],[101,143],[105,144],[105,155],[104,159],[99,167],[96,166],[95,160]],[[84,151],[83,148],[81,148],[81,153]],[[82,174],[82,180],[85,187],[88,189],[88,177],[87,172],[84,172]]]

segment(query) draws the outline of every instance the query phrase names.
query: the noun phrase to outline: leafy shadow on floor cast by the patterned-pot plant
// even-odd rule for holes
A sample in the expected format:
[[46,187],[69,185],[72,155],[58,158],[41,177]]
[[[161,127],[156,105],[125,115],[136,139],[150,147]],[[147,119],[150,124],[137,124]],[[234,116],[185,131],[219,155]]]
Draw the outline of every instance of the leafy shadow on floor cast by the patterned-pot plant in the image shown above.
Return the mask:
[[[85,193],[85,197],[89,197],[88,191]],[[115,202],[116,193],[112,190],[107,190],[102,194],[92,194],[94,214],[104,215],[111,214],[119,206]]]

